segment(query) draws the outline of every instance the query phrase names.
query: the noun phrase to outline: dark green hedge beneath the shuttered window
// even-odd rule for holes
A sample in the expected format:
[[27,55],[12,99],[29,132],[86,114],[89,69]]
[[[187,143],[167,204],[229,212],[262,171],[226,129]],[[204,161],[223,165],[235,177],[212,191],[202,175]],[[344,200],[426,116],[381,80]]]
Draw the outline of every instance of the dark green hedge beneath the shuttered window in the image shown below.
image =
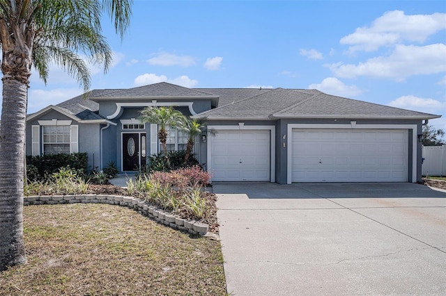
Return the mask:
[[29,181],[43,181],[58,172],[61,167],[70,167],[79,177],[85,178],[89,157],[86,153],[45,154],[26,156],[26,176]]

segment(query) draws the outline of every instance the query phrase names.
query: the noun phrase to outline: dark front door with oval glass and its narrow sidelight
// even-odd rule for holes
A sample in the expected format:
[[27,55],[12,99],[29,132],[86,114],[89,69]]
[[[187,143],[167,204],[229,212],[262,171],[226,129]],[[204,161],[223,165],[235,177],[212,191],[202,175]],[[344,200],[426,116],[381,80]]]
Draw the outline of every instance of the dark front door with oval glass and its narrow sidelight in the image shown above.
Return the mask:
[[146,133],[123,133],[123,171],[146,165]]

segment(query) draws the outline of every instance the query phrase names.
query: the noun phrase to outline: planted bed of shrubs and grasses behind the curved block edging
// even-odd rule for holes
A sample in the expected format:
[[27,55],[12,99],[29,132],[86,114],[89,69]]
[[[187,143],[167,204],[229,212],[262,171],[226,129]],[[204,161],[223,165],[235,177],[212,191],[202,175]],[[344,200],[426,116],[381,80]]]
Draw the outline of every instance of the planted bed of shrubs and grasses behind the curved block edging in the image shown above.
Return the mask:
[[209,231],[218,233],[217,197],[206,190],[210,177],[198,166],[185,167],[171,172],[141,174],[129,179],[126,188],[121,188],[89,183],[79,178],[75,171],[61,168],[47,181],[25,186],[25,196],[93,194],[136,197],[180,218],[208,224]]

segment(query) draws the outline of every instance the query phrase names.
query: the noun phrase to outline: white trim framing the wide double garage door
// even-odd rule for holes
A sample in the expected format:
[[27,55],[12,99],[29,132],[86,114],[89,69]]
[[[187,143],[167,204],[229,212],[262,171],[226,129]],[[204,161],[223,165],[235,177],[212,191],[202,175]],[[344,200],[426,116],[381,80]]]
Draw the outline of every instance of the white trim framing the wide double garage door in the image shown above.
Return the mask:
[[411,129],[412,130],[412,183],[417,182],[417,124],[288,124],[286,151],[286,183],[291,184],[293,172],[292,141],[293,129]]

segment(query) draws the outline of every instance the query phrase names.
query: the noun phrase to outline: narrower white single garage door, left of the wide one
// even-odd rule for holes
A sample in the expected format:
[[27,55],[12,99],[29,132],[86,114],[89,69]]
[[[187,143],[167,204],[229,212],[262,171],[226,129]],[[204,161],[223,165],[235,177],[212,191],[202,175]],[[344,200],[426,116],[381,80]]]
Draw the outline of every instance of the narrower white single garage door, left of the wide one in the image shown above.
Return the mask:
[[209,139],[213,181],[270,181],[270,131],[217,131]]

